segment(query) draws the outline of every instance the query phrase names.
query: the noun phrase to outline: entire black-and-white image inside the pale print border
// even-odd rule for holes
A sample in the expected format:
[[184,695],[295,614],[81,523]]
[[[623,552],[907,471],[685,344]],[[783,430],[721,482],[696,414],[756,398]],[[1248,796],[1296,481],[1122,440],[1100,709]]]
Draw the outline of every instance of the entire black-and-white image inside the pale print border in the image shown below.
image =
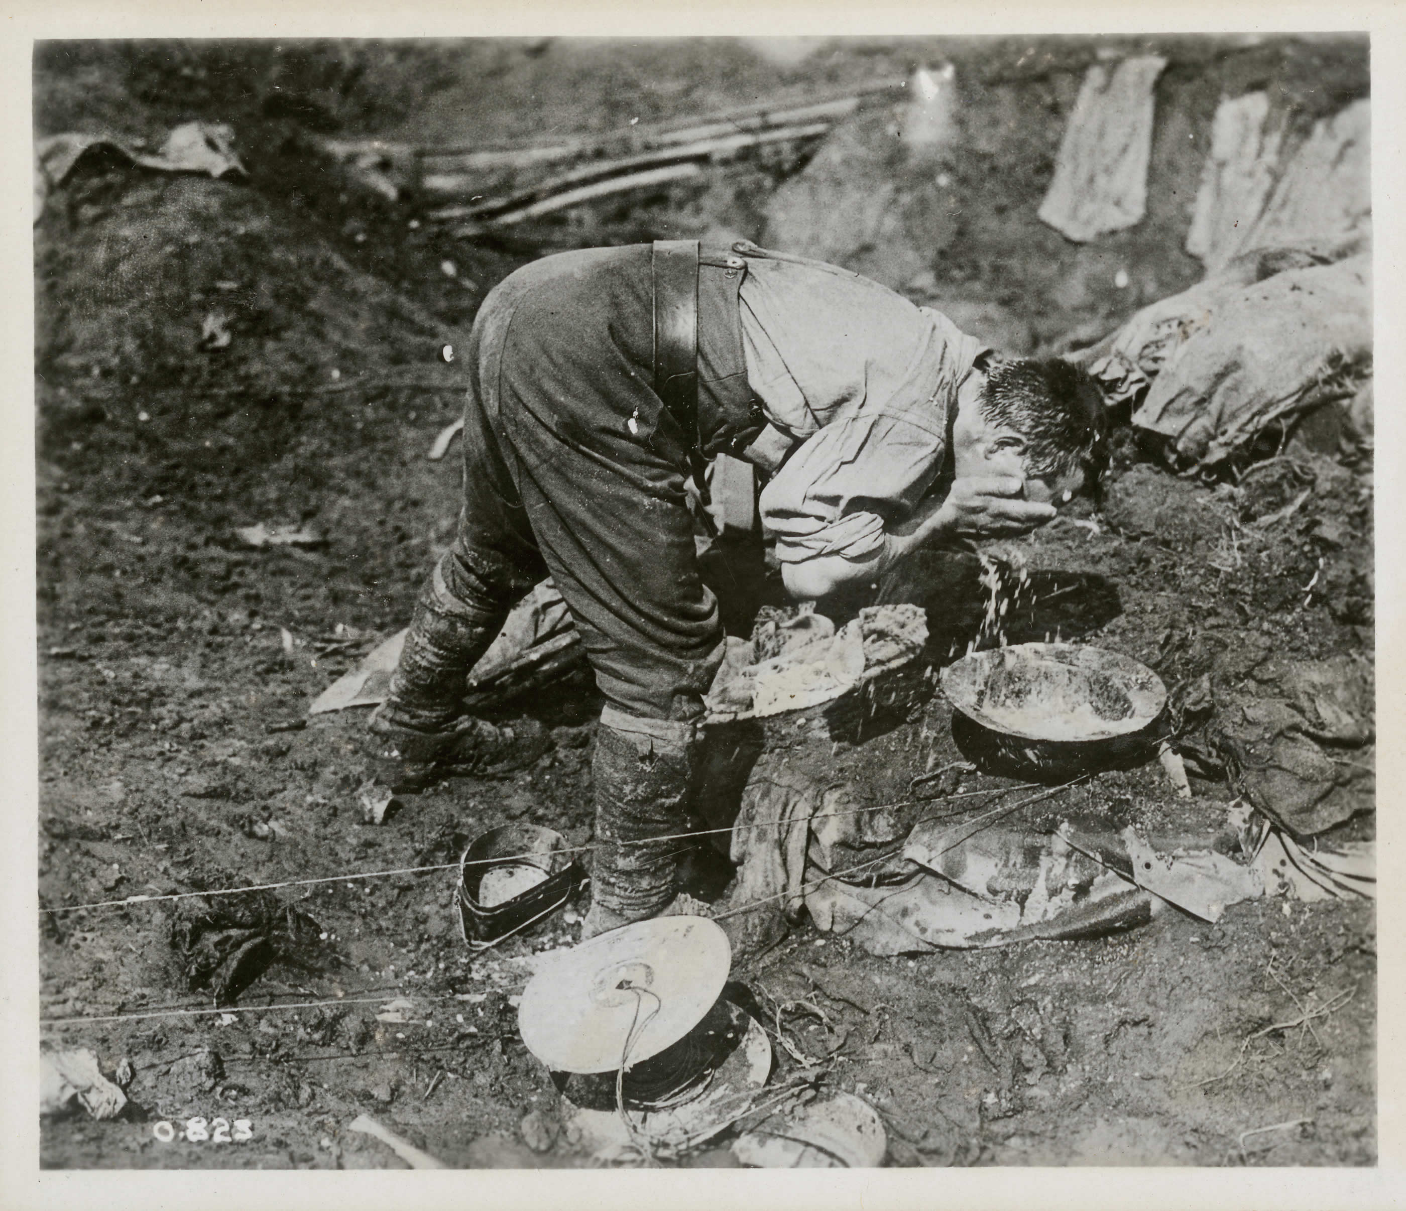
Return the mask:
[[1378,1166],[1375,35],[266,32],[32,42],[35,1163]]

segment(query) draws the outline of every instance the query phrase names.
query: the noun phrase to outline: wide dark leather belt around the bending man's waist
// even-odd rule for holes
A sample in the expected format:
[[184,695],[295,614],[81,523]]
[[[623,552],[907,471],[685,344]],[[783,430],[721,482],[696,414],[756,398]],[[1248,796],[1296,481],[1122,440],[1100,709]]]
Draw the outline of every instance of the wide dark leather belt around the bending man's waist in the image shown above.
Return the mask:
[[699,440],[699,242],[657,239],[654,276],[654,394],[683,430],[703,502],[707,466]]

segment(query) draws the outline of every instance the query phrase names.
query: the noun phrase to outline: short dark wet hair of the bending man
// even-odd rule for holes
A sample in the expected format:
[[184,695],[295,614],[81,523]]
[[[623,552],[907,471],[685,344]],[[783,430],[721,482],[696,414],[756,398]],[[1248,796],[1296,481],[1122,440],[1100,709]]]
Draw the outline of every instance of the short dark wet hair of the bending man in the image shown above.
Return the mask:
[[981,414],[1025,439],[1032,475],[1083,470],[1092,482],[1108,460],[1104,394],[1088,371],[1060,357],[990,357]]

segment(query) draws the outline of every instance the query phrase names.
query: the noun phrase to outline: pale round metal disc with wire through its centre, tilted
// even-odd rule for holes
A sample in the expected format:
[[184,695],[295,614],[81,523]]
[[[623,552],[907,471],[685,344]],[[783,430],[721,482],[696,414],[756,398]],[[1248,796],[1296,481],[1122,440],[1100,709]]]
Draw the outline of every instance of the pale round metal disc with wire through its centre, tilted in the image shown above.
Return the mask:
[[631,1028],[633,1065],[703,1021],[731,965],[727,934],[707,917],[638,921],[543,963],[523,992],[517,1028],[550,1069],[614,1072]]

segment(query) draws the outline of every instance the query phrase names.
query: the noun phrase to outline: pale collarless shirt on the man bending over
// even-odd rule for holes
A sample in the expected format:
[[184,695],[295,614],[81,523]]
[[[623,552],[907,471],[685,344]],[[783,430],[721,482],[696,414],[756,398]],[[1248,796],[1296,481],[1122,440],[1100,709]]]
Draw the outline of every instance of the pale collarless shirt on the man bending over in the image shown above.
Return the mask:
[[988,346],[859,274],[741,248],[748,384],[800,443],[762,492],[762,523],[782,563],[862,560],[941,473],[957,387]]

